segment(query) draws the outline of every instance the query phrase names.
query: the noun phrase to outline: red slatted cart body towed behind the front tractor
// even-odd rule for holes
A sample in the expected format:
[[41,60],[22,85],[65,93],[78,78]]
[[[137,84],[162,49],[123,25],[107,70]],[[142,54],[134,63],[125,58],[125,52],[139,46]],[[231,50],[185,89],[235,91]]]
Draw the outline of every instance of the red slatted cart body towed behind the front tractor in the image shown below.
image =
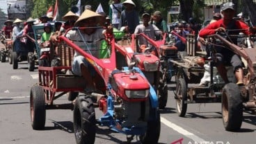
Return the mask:
[[[53,100],[63,96],[69,91],[83,91],[86,88],[86,80],[78,75],[60,74],[60,71],[71,71],[74,49],[58,44],[58,56],[61,59],[61,66],[38,67],[39,85],[45,89],[45,102],[53,105]],[[62,92],[55,96],[56,92]]]

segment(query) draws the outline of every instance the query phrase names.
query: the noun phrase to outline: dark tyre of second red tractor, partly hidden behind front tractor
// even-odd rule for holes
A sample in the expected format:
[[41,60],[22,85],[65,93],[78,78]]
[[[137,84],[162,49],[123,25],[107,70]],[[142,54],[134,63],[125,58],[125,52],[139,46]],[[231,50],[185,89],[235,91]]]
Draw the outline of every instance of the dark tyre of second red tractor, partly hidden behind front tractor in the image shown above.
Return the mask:
[[159,109],[164,109],[166,107],[167,99],[168,99],[168,88],[167,84],[159,87]]

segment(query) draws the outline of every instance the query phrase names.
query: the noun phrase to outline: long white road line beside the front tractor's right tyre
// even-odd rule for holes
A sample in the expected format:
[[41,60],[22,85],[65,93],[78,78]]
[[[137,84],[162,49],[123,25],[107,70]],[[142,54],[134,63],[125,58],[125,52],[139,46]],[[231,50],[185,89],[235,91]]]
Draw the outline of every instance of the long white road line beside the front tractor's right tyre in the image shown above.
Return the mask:
[[164,125],[167,125],[168,127],[175,130],[176,132],[179,132],[179,134],[182,134],[182,135],[184,135],[188,138],[191,138],[195,142],[200,143],[200,142],[205,141],[204,139],[200,138],[199,136],[196,136],[195,134],[187,131],[186,129],[183,129],[182,127],[179,127],[179,125],[175,125],[175,123],[170,122],[166,118],[161,117],[161,123],[163,123]]

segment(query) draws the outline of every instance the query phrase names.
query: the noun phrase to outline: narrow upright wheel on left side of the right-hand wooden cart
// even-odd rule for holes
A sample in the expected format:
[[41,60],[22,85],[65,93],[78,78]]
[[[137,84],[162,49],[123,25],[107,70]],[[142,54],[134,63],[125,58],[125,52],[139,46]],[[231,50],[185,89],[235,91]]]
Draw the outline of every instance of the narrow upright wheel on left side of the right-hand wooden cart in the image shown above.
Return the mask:
[[177,112],[178,115],[184,117],[186,114],[186,107],[187,103],[187,93],[186,93],[186,82],[183,78],[179,78],[177,80],[177,87],[176,87],[176,103],[177,103]]

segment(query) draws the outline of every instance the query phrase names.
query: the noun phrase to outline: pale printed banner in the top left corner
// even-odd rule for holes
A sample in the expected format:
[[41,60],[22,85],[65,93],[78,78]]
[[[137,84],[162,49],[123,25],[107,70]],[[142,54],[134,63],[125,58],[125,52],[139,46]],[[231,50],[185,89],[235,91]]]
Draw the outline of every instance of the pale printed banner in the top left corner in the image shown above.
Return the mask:
[[8,19],[26,20],[26,0],[7,0],[7,15]]

